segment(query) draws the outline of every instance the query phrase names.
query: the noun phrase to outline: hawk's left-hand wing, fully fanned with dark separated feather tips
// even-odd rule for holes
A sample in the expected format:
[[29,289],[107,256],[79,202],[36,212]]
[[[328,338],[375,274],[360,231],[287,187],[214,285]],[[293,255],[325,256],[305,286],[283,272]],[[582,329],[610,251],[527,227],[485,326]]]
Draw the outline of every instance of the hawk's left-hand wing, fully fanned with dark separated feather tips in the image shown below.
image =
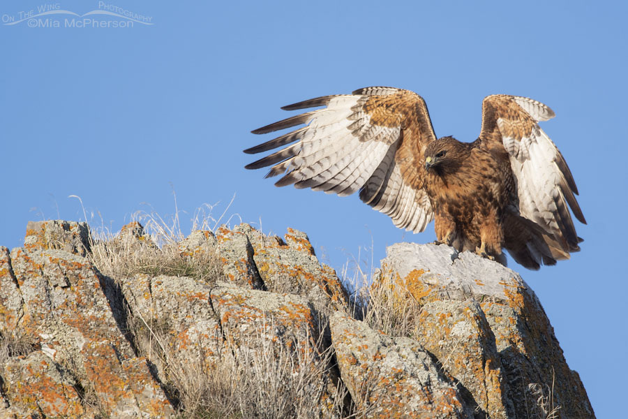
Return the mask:
[[258,128],[264,134],[306,124],[296,131],[244,150],[265,152],[289,145],[246,168],[272,166],[267,177],[284,174],[277,186],[347,196],[360,189],[360,199],[391,216],[396,226],[421,232],[433,219],[423,189],[424,150],[435,140],[421,96],[393,87],[366,87],[350,95],[322,96],[284,110],[315,108]]

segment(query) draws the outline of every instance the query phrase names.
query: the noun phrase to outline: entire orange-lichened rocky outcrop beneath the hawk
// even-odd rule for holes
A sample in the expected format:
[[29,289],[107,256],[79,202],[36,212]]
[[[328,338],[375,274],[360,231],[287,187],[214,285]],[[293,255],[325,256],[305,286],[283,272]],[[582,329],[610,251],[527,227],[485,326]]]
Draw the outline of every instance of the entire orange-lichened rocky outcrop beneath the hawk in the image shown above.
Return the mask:
[[[162,251],[139,223],[116,240]],[[176,264],[215,254],[212,279],[109,277],[98,246],[84,223],[43,221],[0,247],[0,418],[595,418],[536,295],[472,253],[390,247],[360,321],[297,230],[164,247]],[[409,326],[382,332],[395,313]]]

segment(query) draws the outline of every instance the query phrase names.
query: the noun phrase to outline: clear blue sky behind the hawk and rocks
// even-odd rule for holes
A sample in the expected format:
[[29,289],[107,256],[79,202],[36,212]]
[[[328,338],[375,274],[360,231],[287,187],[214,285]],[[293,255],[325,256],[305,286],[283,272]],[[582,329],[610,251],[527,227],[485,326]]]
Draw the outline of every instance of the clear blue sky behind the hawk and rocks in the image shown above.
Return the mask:
[[[22,244],[27,221],[83,219],[118,230],[148,203],[186,233],[203,204],[262,222],[264,232],[308,233],[336,267],[412,235],[359,201],[278,189],[241,152],[271,138],[253,128],[306,98],[371,85],[417,91],[438,136],[477,138],[488,94],[529,96],[557,117],[542,127],[571,167],[588,226],[582,251],[531,272],[569,366],[598,418],[625,415],[628,375],[625,156],[628,8],[625,2],[209,1],[107,2],[151,25],[63,27],[36,0],[0,6],[0,244]],[[52,3],[54,4],[54,3]],[[77,15],[98,1],[61,1]],[[100,5],[101,10],[103,5]],[[23,12],[20,15],[20,12]],[[117,20],[105,15],[82,20]],[[51,23],[52,24],[52,23]],[[70,23],[71,24],[71,23]],[[94,218],[92,218],[94,214]],[[364,251],[364,249],[368,249]]]

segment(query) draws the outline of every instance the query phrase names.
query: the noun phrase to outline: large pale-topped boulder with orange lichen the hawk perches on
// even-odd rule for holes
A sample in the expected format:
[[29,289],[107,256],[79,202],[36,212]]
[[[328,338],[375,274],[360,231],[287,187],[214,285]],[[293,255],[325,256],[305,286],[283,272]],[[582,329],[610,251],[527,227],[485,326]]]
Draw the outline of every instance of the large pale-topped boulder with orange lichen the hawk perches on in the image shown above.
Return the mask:
[[534,291],[514,271],[433,244],[394,244],[382,275],[422,305],[417,337],[491,417],[528,418],[529,385],[553,386],[560,418],[594,418]]

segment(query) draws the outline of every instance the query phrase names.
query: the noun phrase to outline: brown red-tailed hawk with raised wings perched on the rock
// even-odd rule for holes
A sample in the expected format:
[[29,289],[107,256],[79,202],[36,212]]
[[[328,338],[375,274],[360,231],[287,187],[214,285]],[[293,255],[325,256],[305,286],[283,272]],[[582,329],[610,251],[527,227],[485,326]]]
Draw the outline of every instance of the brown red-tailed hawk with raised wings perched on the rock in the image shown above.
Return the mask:
[[412,91],[366,87],[284,106],[325,108],[258,128],[264,134],[306,124],[246,149],[265,152],[294,143],[246,166],[272,166],[277,186],[360,199],[395,226],[423,231],[458,251],[505,263],[502,249],[537,270],[578,251],[582,241],[567,205],[586,223],[576,183],[562,154],[538,125],[554,117],[543,103],[504,94],[482,102],[474,142],[436,139],[426,104]]

